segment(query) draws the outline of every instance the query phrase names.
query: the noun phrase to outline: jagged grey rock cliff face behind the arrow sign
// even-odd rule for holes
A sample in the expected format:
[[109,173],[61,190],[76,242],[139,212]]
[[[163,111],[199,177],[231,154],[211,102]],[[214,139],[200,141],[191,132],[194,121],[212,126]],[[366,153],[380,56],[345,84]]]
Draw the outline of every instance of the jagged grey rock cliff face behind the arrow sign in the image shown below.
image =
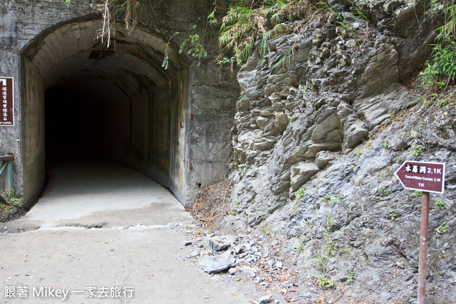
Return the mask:
[[445,194],[431,194],[427,290],[452,303],[455,103],[417,103],[405,85],[430,56],[440,14],[425,1],[329,2],[341,19],[289,23],[238,73],[227,226],[286,236],[298,265],[347,287],[352,271],[353,292],[409,303],[421,197],[393,175],[408,159],[445,162]]

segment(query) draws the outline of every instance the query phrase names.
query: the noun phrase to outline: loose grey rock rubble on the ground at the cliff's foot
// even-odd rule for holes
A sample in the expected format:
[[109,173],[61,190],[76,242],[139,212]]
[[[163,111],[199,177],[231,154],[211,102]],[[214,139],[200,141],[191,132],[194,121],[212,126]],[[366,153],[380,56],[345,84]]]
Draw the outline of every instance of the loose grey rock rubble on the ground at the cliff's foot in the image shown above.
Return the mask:
[[182,244],[188,250],[186,258],[220,279],[254,282],[258,293],[252,295],[251,303],[313,303],[321,298],[316,280],[308,270],[291,270],[292,265],[286,266],[284,257],[293,251],[284,250],[283,242],[261,234],[207,233],[201,238],[194,232],[189,231],[192,240]]

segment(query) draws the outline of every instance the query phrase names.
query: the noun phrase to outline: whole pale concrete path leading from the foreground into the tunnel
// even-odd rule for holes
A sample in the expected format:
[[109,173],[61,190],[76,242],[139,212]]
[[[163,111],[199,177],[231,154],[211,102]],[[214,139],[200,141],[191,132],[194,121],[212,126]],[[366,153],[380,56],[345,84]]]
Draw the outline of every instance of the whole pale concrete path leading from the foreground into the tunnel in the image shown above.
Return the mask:
[[0,303],[249,303],[252,285],[188,261],[192,223],[131,169],[59,167],[31,211],[0,227]]

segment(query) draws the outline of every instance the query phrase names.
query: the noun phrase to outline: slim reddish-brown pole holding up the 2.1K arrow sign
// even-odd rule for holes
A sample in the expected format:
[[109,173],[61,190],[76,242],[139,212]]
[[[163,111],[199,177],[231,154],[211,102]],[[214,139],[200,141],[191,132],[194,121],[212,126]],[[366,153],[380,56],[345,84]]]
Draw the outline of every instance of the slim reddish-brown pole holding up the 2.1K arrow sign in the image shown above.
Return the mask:
[[426,256],[427,256],[427,226],[429,224],[429,192],[423,192],[421,201],[421,231],[420,231],[420,268],[418,270],[418,304],[425,304],[426,293]]

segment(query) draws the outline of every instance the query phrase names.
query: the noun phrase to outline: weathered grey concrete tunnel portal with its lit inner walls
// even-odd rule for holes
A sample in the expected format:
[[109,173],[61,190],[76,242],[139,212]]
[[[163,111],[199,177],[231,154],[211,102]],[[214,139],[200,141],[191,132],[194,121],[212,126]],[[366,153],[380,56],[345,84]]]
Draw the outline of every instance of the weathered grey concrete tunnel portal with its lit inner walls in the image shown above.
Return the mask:
[[[157,179],[182,204],[192,201],[199,189],[224,178],[239,85],[229,69],[212,62],[217,36],[202,32],[206,26],[202,16],[210,1],[170,0],[154,7],[139,1],[144,3],[138,9],[138,26],[125,31],[118,24],[115,50],[104,51],[95,39],[102,27],[96,1],[2,4],[0,75],[14,78],[15,125],[0,127],[0,154],[14,154],[16,197],[26,205],[33,204],[40,193],[43,168],[52,161],[45,153],[46,133],[52,135],[52,128],[46,128],[51,121],[46,117],[45,95],[69,83],[72,88],[85,85],[94,98],[98,93],[93,88],[102,86],[118,100],[118,107],[98,120],[104,126],[98,129],[102,140],[92,137],[92,142],[103,149],[94,152]],[[194,24],[208,51],[201,60],[176,51],[193,33]],[[165,53],[170,56],[167,70],[160,67]],[[104,100],[103,96],[95,99]],[[127,108],[128,118],[106,127],[113,121],[109,117],[115,112],[125,114]],[[102,136],[105,129],[117,132]]]

